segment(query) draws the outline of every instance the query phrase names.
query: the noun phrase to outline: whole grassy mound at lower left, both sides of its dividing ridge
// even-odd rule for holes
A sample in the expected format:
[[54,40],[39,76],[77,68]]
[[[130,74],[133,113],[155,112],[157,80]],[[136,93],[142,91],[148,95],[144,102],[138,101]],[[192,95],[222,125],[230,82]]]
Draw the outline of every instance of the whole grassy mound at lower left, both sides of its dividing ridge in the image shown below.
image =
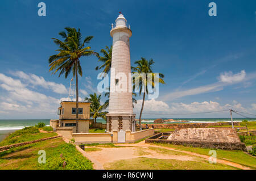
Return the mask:
[[[11,133],[0,145],[10,145],[52,136],[57,136],[57,133],[40,133],[36,127],[27,127]],[[46,151],[46,163],[38,163],[39,150]],[[64,162],[65,166],[63,167]],[[0,169],[86,170],[93,169],[93,165],[77,151],[75,145],[65,143],[62,138],[56,138],[0,152]]]

